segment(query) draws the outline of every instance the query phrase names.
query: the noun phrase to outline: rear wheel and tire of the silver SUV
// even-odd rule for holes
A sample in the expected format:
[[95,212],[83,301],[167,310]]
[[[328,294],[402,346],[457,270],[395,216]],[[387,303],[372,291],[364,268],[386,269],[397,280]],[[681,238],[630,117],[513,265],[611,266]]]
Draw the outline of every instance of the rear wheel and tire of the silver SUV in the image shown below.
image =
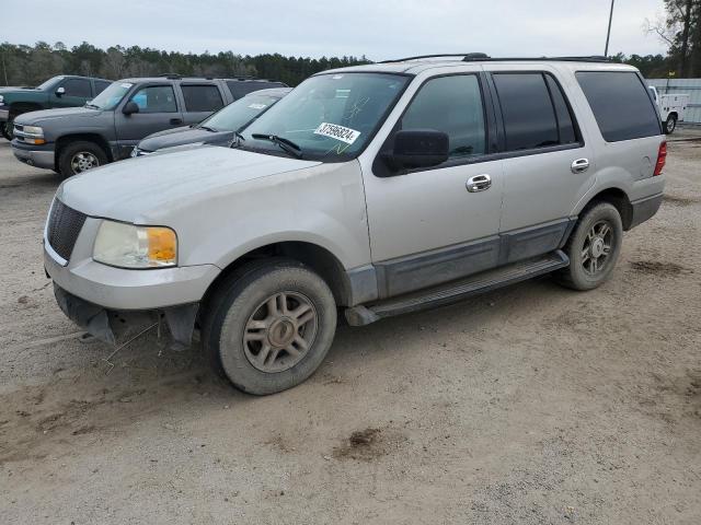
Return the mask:
[[586,210],[570,235],[564,252],[570,266],[555,277],[573,290],[593,290],[613,271],[621,253],[623,224],[616,207],[599,202]]

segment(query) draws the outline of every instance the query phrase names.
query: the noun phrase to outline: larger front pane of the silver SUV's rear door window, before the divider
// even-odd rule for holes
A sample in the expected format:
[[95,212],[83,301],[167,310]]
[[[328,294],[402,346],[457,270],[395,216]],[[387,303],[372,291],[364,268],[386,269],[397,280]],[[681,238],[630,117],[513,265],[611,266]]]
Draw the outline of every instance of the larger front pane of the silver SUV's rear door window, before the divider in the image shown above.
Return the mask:
[[542,73],[494,73],[502,106],[506,150],[560,143],[558,119]]

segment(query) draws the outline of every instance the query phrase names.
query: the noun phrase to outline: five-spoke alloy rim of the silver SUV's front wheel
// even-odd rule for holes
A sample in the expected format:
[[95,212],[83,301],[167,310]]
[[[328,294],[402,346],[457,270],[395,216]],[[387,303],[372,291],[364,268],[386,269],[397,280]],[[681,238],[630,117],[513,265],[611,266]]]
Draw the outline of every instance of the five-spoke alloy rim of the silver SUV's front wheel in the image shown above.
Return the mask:
[[245,357],[262,372],[289,370],[309,352],[318,325],[317,310],[309,298],[289,291],[275,293],[255,308],[245,324]]

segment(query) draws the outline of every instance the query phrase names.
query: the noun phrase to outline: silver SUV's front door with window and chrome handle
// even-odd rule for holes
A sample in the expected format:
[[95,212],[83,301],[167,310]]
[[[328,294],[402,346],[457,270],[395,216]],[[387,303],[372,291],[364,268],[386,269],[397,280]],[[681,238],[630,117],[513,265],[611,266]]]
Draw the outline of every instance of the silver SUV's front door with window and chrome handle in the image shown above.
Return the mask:
[[[450,281],[497,265],[502,161],[490,155],[484,85],[475,73],[428,79],[397,130],[433,129],[449,137],[449,159],[400,174],[364,173],[370,249],[380,295]],[[381,154],[380,154],[381,156]]]

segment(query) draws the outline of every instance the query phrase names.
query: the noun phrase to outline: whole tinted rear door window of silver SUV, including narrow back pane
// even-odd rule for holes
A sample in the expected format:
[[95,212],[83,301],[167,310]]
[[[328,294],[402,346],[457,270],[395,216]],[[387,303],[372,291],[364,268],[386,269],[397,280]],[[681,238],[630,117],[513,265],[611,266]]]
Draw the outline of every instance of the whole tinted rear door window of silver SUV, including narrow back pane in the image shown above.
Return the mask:
[[494,73],[506,150],[532,150],[577,142],[572,113],[549,74]]

